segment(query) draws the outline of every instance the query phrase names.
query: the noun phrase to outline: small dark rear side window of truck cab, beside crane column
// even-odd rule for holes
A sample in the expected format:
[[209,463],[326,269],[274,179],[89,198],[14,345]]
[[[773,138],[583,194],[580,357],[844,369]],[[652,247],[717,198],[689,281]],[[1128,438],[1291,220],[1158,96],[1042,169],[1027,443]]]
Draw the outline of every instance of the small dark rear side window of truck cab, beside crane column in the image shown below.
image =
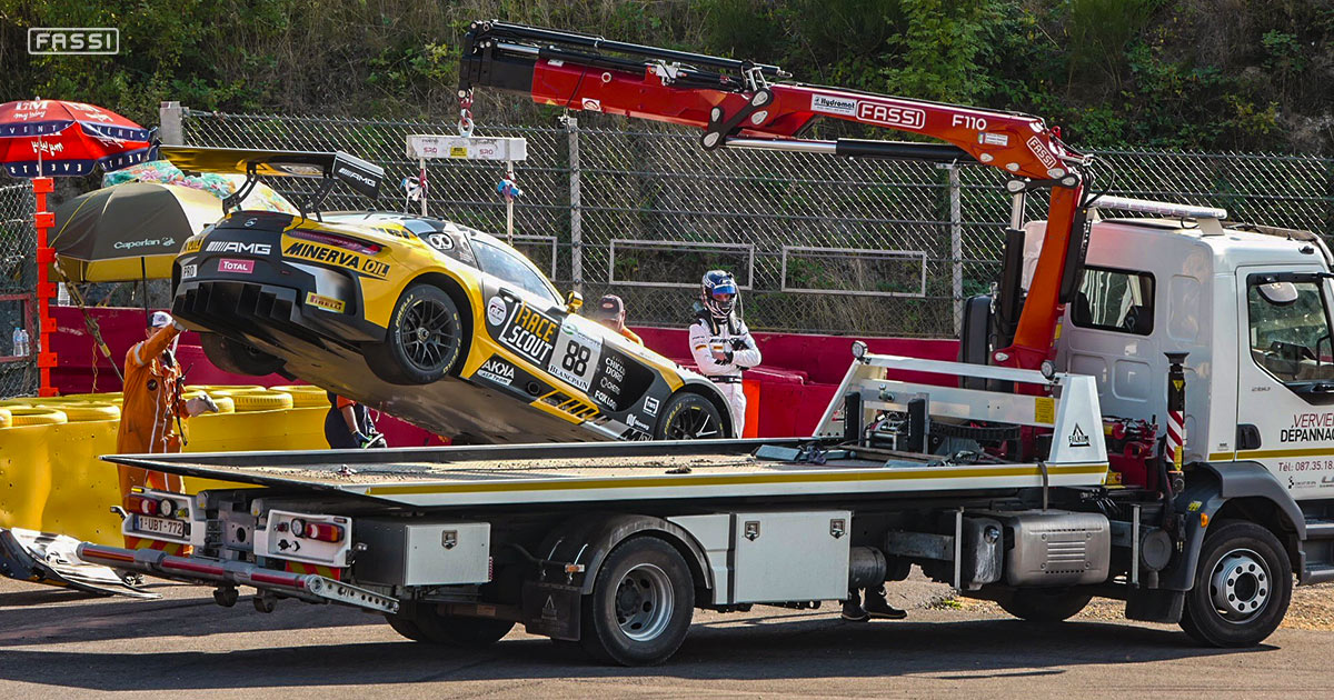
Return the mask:
[[1079,328],[1147,336],[1154,331],[1154,277],[1086,267],[1070,320]]

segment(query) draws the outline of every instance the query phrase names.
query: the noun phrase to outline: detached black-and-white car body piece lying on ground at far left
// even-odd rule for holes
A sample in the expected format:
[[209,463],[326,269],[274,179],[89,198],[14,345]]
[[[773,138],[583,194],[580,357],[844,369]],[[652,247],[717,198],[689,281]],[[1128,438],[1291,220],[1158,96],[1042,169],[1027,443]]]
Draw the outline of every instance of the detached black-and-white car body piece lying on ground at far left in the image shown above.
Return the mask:
[[127,584],[109,567],[80,560],[75,553],[79,544],[79,540],[65,535],[0,528],[0,573],[20,581],[101,596],[161,597]]

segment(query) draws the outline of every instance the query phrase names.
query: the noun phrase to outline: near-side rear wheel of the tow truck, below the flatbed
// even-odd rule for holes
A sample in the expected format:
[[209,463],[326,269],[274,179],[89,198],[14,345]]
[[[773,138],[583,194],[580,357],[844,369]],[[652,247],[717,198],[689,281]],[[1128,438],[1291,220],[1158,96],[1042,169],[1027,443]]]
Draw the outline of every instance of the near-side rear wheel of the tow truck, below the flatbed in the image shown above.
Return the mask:
[[632,537],[607,555],[584,597],[586,652],[600,661],[666,661],[690,632],[695,580],[680,553],[656,537]]

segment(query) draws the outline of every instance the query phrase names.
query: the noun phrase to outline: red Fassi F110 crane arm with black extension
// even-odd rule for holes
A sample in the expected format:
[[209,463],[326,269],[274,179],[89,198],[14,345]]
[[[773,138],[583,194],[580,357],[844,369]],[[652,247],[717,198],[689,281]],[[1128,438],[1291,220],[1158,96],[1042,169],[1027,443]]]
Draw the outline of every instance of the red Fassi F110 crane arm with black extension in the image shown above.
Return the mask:
[[[1003,343],[998,344],[1009,347],[992,353],[995,364],[1023,368],[1037,368],[1047,359],[1062,304],[1078,284],[1087,243],[1087,159],[1069,149],[1035,116],[778,81],[786,77],[775,65],[479,21],[464,39],[459,99],[468,124],[472,89],[482,85],[524,93],[538,104],[699,128],[706,149],[764,148],[990,165],[1010,177],[1007,189],[1015,196],[1011,229],[1023,224],[1026,193],[1050,187],[1047,232],[1022,311],[1022,260],[1007,255],[998,303]],[[800,137],[820,117],[944,143]]]

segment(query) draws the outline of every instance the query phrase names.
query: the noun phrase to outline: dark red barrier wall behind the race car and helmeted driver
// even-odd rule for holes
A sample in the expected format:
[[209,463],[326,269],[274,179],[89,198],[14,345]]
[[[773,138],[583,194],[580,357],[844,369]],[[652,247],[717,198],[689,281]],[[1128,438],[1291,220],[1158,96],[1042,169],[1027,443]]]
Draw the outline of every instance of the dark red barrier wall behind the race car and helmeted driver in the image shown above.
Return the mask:
[[[83,315],[73,307],[52,307],[59,325],[53,339],[57,365],[51,372],[52,383],[60,393],[93,391],[120,391],[120,380],[111,363],[99,353],[84,328]],[[101,336],[111,347],[112,357],[123,363],[129,348],[144,339],[143,309],[93,308],[89,316],[97,320]],[[635,328],[644,344],[654,351],[694,368],[690,356],[688,331],[683,328]],[[954,360],[959,344],[955,340],[920,340],[902,337],[816,336],[800,333],[754,333],[764,356],[764,364],[746,372],[747,437],[783,437],[811,435],[824,407],[828,405],[852,361],[852,340],[863,340],[871,352]],[[277,375],[251,377],[229,375],[217,369],[204,357],[199,336],[181,335],[176,353],[181,367],[188,369],[188,384],[260,384],[264,387],[291,384]],[[950,377],[919,372],[891,372],[895,379],[923,384],[947,384]],[[391,445],[440,444],[440,439],[427,431],[391,416],[383,416],[376,425]]]

